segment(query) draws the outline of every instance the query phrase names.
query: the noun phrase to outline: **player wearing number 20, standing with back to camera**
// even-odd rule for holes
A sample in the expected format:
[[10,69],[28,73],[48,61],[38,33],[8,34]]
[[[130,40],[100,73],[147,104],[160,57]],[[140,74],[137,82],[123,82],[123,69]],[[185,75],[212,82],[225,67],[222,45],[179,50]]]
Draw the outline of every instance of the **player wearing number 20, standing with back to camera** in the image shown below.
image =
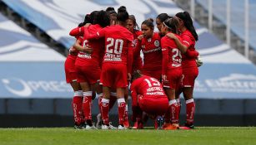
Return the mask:
[[117,89],[118,98],[118,129],[126,129],[123,126],[125,114],[124,92],[128,87],[128,80],[131,79],[133,62],[133,34],[128,31],[128,12],[126,7],[118,8],[117,25],[104,28],[96,35],[89,36],[88,40],[105,38],[105,56],[103,58],[103,69],[101,83],[103,84],[103,99],[101,104],[103,126],[102,129],[109,129],[108,110],[110,88]]

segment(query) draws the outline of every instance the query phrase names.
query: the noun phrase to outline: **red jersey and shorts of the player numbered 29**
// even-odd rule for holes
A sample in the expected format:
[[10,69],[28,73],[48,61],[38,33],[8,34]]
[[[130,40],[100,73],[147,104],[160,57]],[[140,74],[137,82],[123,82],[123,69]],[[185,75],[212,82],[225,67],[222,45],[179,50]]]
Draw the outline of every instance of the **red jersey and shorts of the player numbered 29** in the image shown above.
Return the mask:
[[[175,36],[181,40],[178,35]],[[177,89],[182,78],[181,52],[178,50],[175,41],[168,38],[168,36],[163,36],[161,46],[163,53],[162,74],[167,76],[167,81],[163,81],[163,87]]]

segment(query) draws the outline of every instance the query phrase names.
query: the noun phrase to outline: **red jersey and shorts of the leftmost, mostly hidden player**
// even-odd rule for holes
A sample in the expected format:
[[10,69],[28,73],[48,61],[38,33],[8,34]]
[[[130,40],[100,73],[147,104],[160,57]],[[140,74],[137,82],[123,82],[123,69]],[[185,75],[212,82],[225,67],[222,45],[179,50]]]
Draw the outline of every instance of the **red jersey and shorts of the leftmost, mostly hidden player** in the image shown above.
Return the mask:
[[[77,37],[77,40],[83,41],[83,37]],[[67,83],[78,80],[77,71],[75,69],[75,61],[77,56],[78,51],[76,51],[73,47],[70,48],[67,59],[65,60],[65,74]]]

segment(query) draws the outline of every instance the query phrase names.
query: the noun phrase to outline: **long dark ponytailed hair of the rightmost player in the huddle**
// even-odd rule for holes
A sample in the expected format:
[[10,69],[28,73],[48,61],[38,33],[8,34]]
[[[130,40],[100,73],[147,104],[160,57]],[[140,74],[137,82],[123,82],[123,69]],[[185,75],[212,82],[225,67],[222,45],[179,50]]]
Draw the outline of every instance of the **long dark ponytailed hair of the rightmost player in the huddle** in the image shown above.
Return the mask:
[[193,35],[193,38],[198,41],[198,33],[195,31],[193,27],[193,21],[188,12],[178,12],[176,17],[180,18],[184,22],[184,26],[187,27],[188,31],[190,31]]

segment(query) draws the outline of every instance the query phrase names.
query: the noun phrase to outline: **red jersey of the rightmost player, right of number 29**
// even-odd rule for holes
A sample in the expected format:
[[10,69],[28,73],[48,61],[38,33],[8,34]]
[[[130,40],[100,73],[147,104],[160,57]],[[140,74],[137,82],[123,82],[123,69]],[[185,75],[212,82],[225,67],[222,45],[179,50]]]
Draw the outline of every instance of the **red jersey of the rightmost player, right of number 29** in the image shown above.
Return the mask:
[[[182,38],[182,43],[184,46],[188,47],[188,51],[195,51],[195,39],[192,35],[192,33],[188,30],[183,31],[183,33],[180,35],[180,37]],[[187,53],[185,53],[183,55],[183,61],[182,61],[183,67],[185,68],[190,68],[190,67],[197,67],[196,65],[196,61],[194,57],[189,56]]]

